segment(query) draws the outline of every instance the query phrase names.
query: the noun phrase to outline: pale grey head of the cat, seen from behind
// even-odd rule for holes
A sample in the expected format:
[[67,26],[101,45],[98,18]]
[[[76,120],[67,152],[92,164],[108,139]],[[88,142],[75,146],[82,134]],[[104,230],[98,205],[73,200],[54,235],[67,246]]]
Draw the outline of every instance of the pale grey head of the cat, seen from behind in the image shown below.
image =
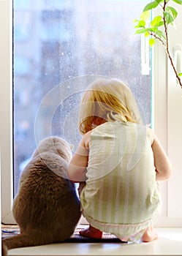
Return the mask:
[[36,157],[43,152],[58,154],[69,162],[72,158],[72,145],[62,138],[54,136],[48,137],[39,143],[33,157]]

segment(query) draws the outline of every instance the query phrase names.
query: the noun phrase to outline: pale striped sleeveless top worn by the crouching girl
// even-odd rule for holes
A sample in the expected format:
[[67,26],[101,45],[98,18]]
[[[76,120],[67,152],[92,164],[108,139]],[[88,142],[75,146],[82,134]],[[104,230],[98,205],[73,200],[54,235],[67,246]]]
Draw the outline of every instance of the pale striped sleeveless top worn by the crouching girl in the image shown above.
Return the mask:
[[93,129],[80,195],[88,222],[124,241],[138,241],[160,208],[153,162],[147,127],[115,121]]

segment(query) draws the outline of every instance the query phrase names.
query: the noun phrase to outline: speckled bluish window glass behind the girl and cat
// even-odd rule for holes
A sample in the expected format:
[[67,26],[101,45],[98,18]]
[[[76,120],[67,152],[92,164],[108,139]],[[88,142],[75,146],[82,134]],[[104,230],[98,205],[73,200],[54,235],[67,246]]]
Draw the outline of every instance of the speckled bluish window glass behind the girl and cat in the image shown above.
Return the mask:
[[[151,75],[143,73],[141,38],[134,35],[146,1],[14,0],[14,194],[20,173],[42,138],[77,146],[83,90],[99,76],[132,89],[151,123]],[[144,53],[145,56],[145,53]],[[150,67],[150,66],[149,66]]]

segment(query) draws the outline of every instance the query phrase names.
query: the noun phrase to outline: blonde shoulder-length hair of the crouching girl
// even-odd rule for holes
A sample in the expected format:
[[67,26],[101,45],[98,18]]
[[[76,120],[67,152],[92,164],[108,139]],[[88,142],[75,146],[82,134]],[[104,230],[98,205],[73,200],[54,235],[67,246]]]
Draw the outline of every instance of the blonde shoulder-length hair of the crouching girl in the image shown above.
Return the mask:
[[142,123],[132,91],[125,83],[115,78],[95,80],[86,88],[81,100],[81,134],[106,121]]

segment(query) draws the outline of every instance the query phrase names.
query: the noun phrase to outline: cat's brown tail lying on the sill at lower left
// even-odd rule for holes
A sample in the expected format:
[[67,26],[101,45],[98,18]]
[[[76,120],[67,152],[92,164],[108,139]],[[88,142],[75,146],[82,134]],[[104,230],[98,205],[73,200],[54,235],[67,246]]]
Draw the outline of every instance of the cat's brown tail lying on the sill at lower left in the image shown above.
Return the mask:
[[[51,241],[50,241],[51,243]],[[20,248],[20,247],[27,247],[27,246],[38,246],[42,244],[48,244],[45,242],[44,238],[41,236],[37,236],[34,233],[32,234],[18,234],[17,236],[11,236],[10,238],[2,239],[2,246],[1,246],[1,255],[7,256],[7,250],[13,248]]]

